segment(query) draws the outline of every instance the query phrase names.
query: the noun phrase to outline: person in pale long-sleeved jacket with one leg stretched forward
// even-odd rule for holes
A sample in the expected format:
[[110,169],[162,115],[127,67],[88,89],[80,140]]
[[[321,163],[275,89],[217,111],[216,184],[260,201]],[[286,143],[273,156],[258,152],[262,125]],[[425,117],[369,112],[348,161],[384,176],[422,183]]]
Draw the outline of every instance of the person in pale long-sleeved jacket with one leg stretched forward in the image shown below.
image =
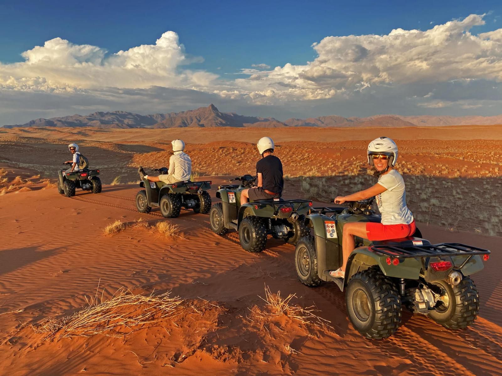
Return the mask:
[[192,174],[192,160],[190,156],[183,151],[185,150],[185,143],[182,140],[173,140],[171,144],[173,145],[174,154],[169,158],[168,173],[159,176],[147,175],[143,167],[140,166],[140,168],[138,168],[138,173],[142,180],[163,181],[168,184],[190,180]]

